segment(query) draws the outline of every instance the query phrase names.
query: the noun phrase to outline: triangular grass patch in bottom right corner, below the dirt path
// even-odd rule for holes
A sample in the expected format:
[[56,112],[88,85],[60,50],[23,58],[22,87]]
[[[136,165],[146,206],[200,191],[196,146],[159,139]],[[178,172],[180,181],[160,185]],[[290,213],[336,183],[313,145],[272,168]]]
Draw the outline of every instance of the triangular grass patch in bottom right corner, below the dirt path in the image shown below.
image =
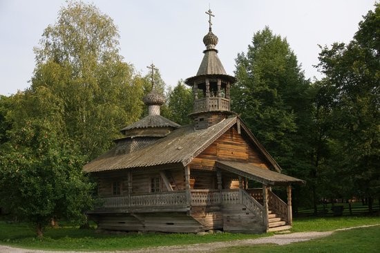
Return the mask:
[[228,247],[216,252],[220,253],[265,253],[265,252],[379,252],[380,226],[363,227],[334,232],[331,236],[288,245],[253,245],[244,247]]

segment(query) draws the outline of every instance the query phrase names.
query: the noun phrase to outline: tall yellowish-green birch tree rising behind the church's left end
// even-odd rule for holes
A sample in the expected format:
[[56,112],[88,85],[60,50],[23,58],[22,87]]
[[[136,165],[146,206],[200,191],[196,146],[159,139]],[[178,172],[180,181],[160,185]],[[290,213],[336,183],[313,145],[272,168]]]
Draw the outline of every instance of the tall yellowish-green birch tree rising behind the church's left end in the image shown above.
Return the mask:
[[122,61],[113,20],[92,4],[68,2],[35,48],[30,91],[48,88],[59,100],[69,138],[95,158],[142,113],[144,80]]

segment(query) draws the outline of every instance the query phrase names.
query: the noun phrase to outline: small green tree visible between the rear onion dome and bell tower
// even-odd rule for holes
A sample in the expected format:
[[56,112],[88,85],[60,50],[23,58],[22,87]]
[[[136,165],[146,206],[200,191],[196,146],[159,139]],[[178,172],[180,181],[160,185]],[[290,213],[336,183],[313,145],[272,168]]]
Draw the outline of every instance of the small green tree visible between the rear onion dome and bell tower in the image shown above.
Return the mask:
[[180,80],[168,94],[168,118],[174,122],[186,125],[190,123],[189,114],[193,112],[193,93],[191,88],[187,88]]

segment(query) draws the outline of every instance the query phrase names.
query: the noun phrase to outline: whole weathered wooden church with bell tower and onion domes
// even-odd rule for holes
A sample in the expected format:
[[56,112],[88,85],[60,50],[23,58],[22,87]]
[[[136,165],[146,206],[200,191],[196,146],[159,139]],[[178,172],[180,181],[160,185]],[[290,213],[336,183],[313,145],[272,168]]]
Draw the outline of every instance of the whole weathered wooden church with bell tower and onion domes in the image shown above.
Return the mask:
[[[211,10],[206,13],[211,19]],[[292,226],[291,184],[304,182],[281,174],[230,111],[236,79],[220,62],[209,24],[198,73],[185,81],[193,89],[193,124],[160,115],[164,97],[152,78],[153,91],[144,97],[149,115],[122,129],[113,149],[84,166],[97,179],[99,205],[88,214],[100,229],[260,233]],[[249,180],[259,188],[249,189]],[[285,202],[272,186],[286,187]]]

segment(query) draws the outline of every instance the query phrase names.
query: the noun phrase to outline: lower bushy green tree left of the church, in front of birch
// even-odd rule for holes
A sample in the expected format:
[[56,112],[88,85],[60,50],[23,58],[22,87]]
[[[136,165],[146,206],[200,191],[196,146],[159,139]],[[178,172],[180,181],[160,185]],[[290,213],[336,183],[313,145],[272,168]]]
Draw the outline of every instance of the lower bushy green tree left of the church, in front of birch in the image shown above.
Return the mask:
[[0,205],[34,224],[38,236],[53,217],[86,222],[93,184],[82,173],[84,156],[65,136],[59,106],[49,106],[55,97],[39,88],[8,99],[12,127],[0,147]]

